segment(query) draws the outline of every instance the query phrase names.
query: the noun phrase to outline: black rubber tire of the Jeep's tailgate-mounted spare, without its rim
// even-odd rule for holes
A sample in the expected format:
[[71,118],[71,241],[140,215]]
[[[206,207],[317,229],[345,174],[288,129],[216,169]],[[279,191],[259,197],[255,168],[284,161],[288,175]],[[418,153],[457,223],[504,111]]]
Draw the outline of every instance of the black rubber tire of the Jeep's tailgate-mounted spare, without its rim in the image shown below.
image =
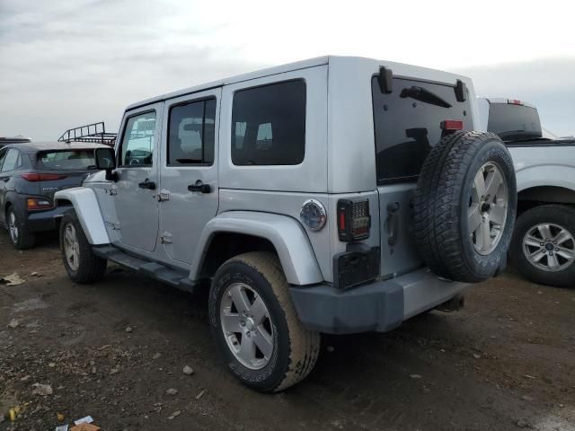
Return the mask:
[[[500,241],[486,255],[473,248],[467,216],[475,174],[496,163],[508,188],[508,209]],[[506,258],[517,211],[513,161],[491,133],[457,132],[433,147],[423,164],[413,198],[413,237],[421,259],[439,277],[476,283],[493,276]]]

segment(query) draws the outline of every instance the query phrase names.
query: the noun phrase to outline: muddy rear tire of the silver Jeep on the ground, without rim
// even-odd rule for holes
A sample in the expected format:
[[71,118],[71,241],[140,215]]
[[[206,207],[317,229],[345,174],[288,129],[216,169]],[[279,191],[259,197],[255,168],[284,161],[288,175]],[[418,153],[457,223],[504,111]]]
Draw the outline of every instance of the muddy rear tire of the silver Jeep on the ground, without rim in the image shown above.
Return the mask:
[[[270,311],[273,353],[269,363],[260,370],[252,370],[236,359],[222,330],[222,296],[234,283],[250,286]],[[231,373],[246,386],[263,392],[283,391],[313,370],[320,352],[320,334],[306,330],[298,320],[288,282],[279,259],[272,253],[255,251],[227,260],[213,278],[208,303],[209,323],[217,347]]]

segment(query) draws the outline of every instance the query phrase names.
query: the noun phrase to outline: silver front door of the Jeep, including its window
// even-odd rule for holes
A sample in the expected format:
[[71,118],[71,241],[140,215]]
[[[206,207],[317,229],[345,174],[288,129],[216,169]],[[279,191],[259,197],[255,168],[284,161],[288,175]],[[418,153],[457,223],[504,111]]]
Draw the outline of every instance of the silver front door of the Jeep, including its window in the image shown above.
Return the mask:
[[163,103],[127,112],[120,132],[113,196],[121,246],[154,251],[158,236],[158,154]]

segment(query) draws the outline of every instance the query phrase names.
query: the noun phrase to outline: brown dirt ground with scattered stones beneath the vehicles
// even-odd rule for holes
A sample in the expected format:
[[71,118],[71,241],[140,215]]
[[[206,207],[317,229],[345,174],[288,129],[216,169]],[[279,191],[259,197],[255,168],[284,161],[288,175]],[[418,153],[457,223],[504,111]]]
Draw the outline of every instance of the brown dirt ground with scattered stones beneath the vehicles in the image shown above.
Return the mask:
[[324,337],[304,383],[262,395],[217,360],[201,298],[119,268],[76,286],[53,235],[22,252],[2,231],[0,277],[13,273],[24,282],[0,285],[0,413],[23,409],[2,431],[53,430],[57,413],[112,431],[575,430],[575,289],[508,273],[461,312]]

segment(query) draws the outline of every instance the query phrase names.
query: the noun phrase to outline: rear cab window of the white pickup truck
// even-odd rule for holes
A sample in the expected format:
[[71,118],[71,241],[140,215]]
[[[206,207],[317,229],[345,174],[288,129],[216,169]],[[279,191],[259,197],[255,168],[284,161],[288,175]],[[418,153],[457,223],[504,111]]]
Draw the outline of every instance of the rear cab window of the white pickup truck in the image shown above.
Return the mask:
[[504,141],[543,136],[537,110],[511,103],[490,103],[487,129]]

